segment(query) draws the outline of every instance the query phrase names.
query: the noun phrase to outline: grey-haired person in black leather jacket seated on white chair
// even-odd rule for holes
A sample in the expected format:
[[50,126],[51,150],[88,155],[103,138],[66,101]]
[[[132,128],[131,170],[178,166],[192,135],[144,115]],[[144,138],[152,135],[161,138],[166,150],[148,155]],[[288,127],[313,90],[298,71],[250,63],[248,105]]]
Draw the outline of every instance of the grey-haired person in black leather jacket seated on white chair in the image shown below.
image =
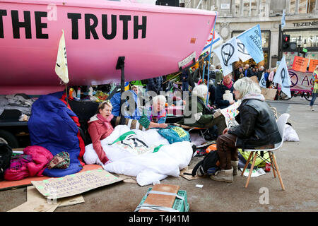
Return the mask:
[[[261,95],[257,83],[248,77],[240,78],[234,83],[234,94],[237,100],[242,99],[235,117],[238,126],[226,128],[222,136],[216,140],[216,148],[220,157],[220,171],[211,175],[211,179],[220,182],[233,182],[237,175],[237,148],[259,148],[264,145],[273,146],[281,142],[273,111]],[[264,147],[263,147],[264,148]]]

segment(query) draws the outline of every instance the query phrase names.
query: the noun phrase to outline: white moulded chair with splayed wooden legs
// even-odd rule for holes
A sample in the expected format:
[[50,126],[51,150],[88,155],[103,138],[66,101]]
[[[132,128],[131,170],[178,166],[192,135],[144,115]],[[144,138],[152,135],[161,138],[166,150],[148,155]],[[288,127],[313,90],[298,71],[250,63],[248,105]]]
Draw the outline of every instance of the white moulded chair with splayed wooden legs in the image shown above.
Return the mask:
[[[285,114],[281,114],[281,116],[277,119],[278,131],[281,134],[282,141],[280,143],[276,143],[274,145],[274,148],[271,148],[271,149],[245,149],[245,151],[249,151],[251,153],[249,154],[249,158],[247,159],[247,162],[245,164],[245,167],[242,171],[241,176],[243,176],[245,169],[247,168],[247,165],[249,164],[249,160],[251,160],[251,158],[253,158],[252,166],[251,166],[251,169],[249,169],[249,177],[247,177],[247,182],[245,184],[245,188],[247,188],[247,186],[249,185],[249,180],[251,179],[252,171],[253,171],[255,160],[257,159],[257,156],[261,157],[261,159],[264,160],[264,158],[261,155],[259,155],[259,152],[264,152],[264,153],[268,152],[269,159],[271,160],[271,167],[273,168],[273,176],[274,176],[274,178],[276,178],[276,172],[277,172],[279,182],[281,183],[281,187],[283,190],[285,190],[283,180],[281,179],[281,172],[279,172],[279,168],[278,168],[278,165],[276,162],[276,157],[273,154],[273,151],[278,150],[283,145],[285,124],[286,124],[289,117],[290,117],[290,114],[285,113]],[[266,161],[266,160],[264,160],[264,161]]]

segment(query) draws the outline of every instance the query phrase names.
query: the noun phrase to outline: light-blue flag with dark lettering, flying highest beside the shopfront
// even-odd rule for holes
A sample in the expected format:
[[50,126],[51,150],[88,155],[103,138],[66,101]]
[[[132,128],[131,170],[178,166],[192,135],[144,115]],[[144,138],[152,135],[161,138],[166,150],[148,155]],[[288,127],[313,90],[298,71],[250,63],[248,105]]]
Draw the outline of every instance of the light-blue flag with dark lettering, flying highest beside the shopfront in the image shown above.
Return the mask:
[[259,24],[242,32],[237,38],[245,45],[247,52],[257,64],[264,60],[263,47],[261,46],[261,28]]

